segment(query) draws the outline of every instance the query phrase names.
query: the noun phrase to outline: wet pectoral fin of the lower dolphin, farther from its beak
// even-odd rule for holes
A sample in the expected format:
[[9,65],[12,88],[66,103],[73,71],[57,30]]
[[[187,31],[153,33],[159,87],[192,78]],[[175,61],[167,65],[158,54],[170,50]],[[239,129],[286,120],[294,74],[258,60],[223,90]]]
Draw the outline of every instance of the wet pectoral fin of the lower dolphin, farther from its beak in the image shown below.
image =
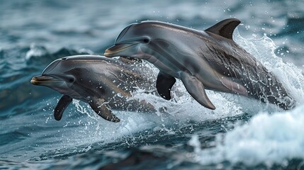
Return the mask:
[[108,121],[118,123],[120,120],[112,113],[112,111],[108,108],[108,105],[104,103],[103,99],[94,99],[89,102],[89,105],[91,108],[101,116],[101,118],[104,118]]

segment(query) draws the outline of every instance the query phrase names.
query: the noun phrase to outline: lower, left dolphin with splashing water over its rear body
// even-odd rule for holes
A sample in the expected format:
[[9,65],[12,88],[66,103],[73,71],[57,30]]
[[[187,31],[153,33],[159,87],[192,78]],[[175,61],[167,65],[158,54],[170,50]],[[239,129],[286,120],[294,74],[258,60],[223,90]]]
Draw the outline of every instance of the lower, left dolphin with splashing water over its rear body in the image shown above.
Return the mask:
[[[136,65],[136,67],[135,67]],[[47,86],[63,96],[55,107],[55,120],[72,99],[89,103],[102,118],[119,122],[111,111],[152,112],[154,107],[145,101],[130,100],[137,89],[152,91],[154,82],[147,77],[151,69],[140,62],[120,57],[111,59],[103,56],[78,55],[55,60],[45,68],[42,75],[33,77],[31,83]]]

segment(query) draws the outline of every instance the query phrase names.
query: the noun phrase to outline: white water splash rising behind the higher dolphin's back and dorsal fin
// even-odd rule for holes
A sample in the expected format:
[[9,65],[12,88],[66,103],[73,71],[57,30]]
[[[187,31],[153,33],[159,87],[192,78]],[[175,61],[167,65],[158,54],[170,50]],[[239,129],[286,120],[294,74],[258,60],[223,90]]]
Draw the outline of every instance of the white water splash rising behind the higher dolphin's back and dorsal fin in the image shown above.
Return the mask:
[[281,57],[276,56],[275,50],[278,46],[271,38],[264,34],[261,38],[246,39],[240,35],[238,30],[235,30],[234,38],[237,44],[256,57],[278,77],[298,104],[304,101],[304,77],[301,70],[295,64],[284,63]]

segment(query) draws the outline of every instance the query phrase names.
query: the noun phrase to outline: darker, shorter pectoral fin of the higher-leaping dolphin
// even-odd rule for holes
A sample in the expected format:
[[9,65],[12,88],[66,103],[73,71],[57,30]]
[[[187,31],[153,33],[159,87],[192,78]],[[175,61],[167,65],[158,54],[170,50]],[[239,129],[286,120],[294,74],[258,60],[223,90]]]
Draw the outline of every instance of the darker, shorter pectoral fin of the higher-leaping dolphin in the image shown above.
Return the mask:
[[156,81],[156,89],[158,94],[162,96],[162,98],[170,100],[170,91],[175,81],[176,79],[174,77],[171,77],[169,74],[159,72]]

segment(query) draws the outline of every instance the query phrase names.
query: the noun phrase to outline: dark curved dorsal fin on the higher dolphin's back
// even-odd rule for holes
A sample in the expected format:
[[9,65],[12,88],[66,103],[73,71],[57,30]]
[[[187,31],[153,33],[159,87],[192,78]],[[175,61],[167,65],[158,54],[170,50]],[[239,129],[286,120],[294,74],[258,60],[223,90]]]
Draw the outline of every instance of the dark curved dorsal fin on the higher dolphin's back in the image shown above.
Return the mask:
[[235,30],[240,23],[241,21],[236,18],[229,18],[216,23],[214,26],[206,29],[205,31],[218,34],[224,38],[232,40],[233,30]]

